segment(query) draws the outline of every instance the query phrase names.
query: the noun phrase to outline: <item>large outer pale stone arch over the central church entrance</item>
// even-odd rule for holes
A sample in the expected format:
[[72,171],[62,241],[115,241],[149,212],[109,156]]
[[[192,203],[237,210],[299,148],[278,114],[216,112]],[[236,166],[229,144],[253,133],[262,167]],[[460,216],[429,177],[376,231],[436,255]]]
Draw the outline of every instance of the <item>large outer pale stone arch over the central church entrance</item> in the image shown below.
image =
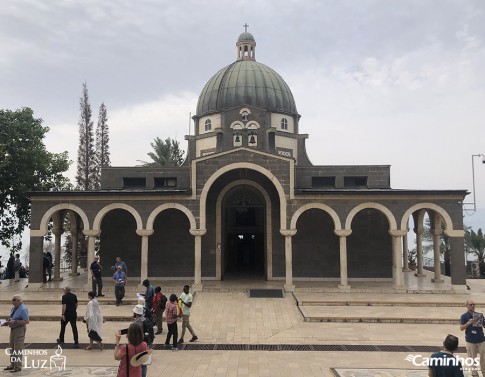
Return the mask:
[[249,162],[236,162],[233,164],[229,164],[224,166],[223,168],[217,170],[214,174],[212,174],[207,182],[205,183],[204,187],[202,188],[202,192],[200,194],[200,229],[206,228],[206,205],[207,205],[207,195],[209,194],[209,190],[213,183],[216,181],[217,178],[221,177],[223,174],[236,169],[251,169],[255,170],[261,174],[263,174],[266,178],[268,178],[276,188],[278,192],[278,197],[280,199],[280,228],[286,229],[286,197],[285,191],[281,183],[278,179],[271,173],[268,169],[265,169],[259,165],[252,164]]

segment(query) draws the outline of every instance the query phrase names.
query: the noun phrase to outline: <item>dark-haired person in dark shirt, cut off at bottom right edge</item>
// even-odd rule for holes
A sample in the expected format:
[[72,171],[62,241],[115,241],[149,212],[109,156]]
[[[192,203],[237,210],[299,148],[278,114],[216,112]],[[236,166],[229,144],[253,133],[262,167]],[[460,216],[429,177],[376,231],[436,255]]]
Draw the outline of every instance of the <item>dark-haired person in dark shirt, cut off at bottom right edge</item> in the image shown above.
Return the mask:
[[443,341],[443,349],[433,353],[429,359],[429,377],[464,377],[463,367],[453,352],[458,348],[458,338],[448,335]]

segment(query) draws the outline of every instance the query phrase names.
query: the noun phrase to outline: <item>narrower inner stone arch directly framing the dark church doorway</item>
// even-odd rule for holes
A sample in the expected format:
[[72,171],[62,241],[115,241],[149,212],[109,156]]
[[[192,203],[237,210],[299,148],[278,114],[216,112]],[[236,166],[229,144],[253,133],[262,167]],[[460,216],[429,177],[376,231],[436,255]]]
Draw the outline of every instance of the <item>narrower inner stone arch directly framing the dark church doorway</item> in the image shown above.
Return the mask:
[[[258,190],[262,195],[263,199],[266,203],[266,274],[267,279],[271,280],[273,278],[273,252],[271,250],[271,230],[272,230],[272,222],[271,222],[271,199],[268,195],[266,189],[261,186],[259,183],[250,181],[248,179],[238,179],[237,181],[233,181],[229,183],[226,187],[222,189],[219,193],[216,201],[216,242],[222,241],[222,199],[224,196],[231,190],[232,188],[240,185],[248,185],[254,187]],[[220,280],[222,276],[222,266],[221,266],[221,256],[216,256],[216,279]]]

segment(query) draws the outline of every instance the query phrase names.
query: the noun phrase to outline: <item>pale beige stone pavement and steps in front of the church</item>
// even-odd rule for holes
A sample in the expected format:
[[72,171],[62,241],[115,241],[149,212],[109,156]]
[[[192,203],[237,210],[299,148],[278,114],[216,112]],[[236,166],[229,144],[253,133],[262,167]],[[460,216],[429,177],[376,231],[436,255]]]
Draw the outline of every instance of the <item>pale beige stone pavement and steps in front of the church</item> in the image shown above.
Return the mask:
[[[79,281],[77,281],[79,279]],[[103,338],[107,345],[100,351],[73,349],[72,332],[67,328],[66,345],[61,356],[66,357],[66,370],[49,368],[48,359],[55,356],[60,314],[62,285],[70,285],[83,300],[79,315],[84,314],[86,292],[81,291],[85,276],[67,278],[62,284],[53,283],[50,289],[29,291],[26,281],[0,284],[0,318],[8,316],[11,296],[20,293],[29,308],[32,320],[27,328],[27,349],[40,355],[28,356],[26,367],[15,375],[32,376],[115,376],[118,361],[113,358],[114,332],[128,325],[132,304],[116,307],[114,294],[107,290],[101,299],[103,314],[110,318],[103,327]],[[171,284],[174,284],[173,282]],[[174,287],[178,283],[174,284]],[[463,345],[463,333],[459,331],[458,319],[465,311],[466,298],[485,303],[485,281],[470,280],[467,293],[436,295],[384,295],[381,293],[322,293],[295,292],[284,298],[249,298],[241,283],[240,289],[225,291],[202,291],[195,296],[191,323],[199,337],[198,349],[190,350],[189,343],[179,352],[160,349],[165,337],[157,336],[153,364],[148,375],[171,377],[222,377],[222,376],[345,376],[345,377],[401,377],[426,376],[425,367],[413,366],[406,361],[409,354],[429,356],[438,350],[444,337],[451,333],[459,336]],[[180,284],[182,286],[183,284]],[[432,286],[432,284],[430,284]],[[175,289],[175,288],[173,288]],[[137,290],[133,287],[129,296]],[[169,292],[166,290],[165,292]],[[179,294],[180,292],[175,292]],[[132,297],[128,297],[132,298]],[[132,298],[132,300],[134,297]],[[306,322],[303,310],[311,308],[297,306],[297,301],[327,301],[327,305],[316,305],[321,311],[347,306],[347,310],[361,312],[365,308],[370,315],[397,302],[391,310],[411,312],[416,318],[440,315],[440,306],[446,304],[447,318],[456,318],[456,323],[352,323],[352,322]],[[343,305],[339,304],[339,300]],[[358,306],[356,302],[374,300],[377,306]],[[354,303],[354,306],[347,305]],[[409,305],[407,305],[409,303]],[[430,305],[426,305],[429,303]],[[485,310],[485,304],[481,307]],[[340,309],[339,309],[340,310]],[[374,310],[374,312],[372,312]],[[480,306],[477,308],[480,310]],[[414,313],[414,314],[413,314]],[[116,321],[115,321],[116,319]],[[80,341],[87,342],[82,323],[78,323]],[[179,325],[180,331],[180,325]],[[0,347],[8,344],[7,328],[0,329]],[[188,335],[186,335],[186,340]],[[345,345],[348,347],[345,348]],[[353,348],[351,347],[353,346]],[[385,346],[389,346],[385,348]],[[409,346],[398,349],[394,346]],[[206,347],[204,349],[204,347]],[[265,350],[265,347],[267,350]],[[310,347],[311,350],[308,350]],[[394,347],[394,348],[392,348]],[[413,348],[414,347],[414,348]],[[422,347],[422,348],[420,348]],[[435,348],[434,348],[435,347]],[[356,350],[361,348],[361,350]],[[413,351],[418,350],[418,351]],[[420,351],[425,350],[425,351]],[[59,351],[58,351],[59,352]],[[461,354],[465,357],[466,355]],[[45,362],[45,368],[42,364]],[[6,366],[8,356],[2,352],[0,365]],[[9,374],[0,370],[0,375]]]

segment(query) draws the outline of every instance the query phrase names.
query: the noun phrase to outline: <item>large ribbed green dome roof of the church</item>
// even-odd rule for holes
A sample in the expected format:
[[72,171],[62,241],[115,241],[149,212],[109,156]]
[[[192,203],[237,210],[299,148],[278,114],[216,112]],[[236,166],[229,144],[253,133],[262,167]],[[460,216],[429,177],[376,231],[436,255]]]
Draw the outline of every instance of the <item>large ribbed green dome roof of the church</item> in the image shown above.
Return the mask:
[[273,69],[254,60],[238,60],[217,72],[202,89],[197,116],[242,105],[298,114],[286,82]]

